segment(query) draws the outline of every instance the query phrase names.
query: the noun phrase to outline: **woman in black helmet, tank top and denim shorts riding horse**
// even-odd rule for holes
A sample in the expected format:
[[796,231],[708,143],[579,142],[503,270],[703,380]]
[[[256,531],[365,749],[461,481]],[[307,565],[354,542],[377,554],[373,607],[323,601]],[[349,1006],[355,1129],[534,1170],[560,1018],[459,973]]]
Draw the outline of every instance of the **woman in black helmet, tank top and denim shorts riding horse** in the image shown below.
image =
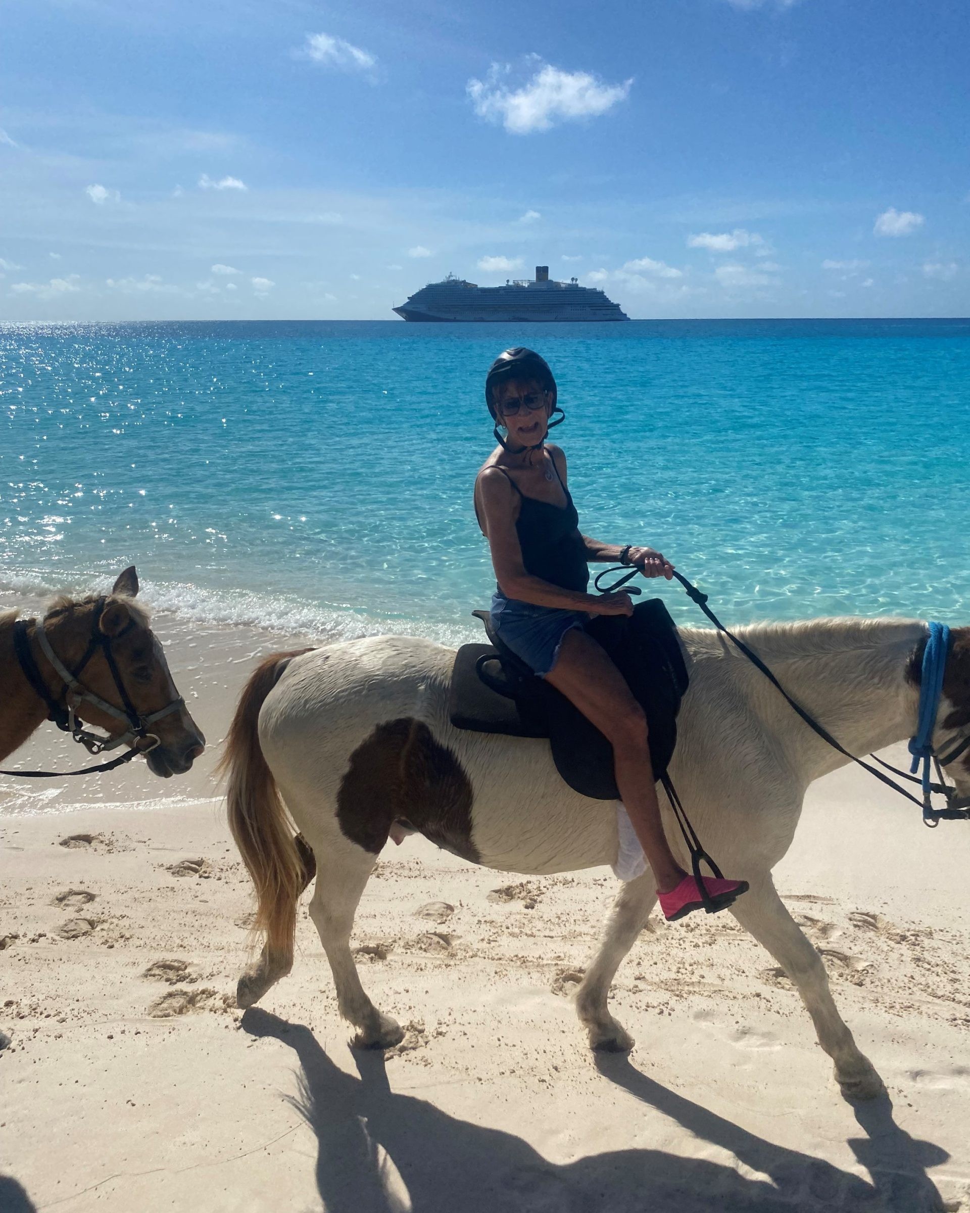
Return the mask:
[[[645,577],[673,576],[652,547],[616,547],[582,535],[566,488],[566,456],[547,443],[563,420],[546,360],[515,347],[485,380],[498,445],[475,480],[475,513],[497,579],[491,622],[530,670],[561,691],[614,747],[616,784],[657,882],[668,919],[703,905],[701,890],[674,859],[663,832],[644,711],[606,651],[586,631],[594,615],[630,615],[626,591],[587,593],[588,562],[635,565]],[[553,414],[558,420],[552,421]],[[500,428],[506,431],[503,438]],[[715,910],[747,889],[743,881],[703,877]]]

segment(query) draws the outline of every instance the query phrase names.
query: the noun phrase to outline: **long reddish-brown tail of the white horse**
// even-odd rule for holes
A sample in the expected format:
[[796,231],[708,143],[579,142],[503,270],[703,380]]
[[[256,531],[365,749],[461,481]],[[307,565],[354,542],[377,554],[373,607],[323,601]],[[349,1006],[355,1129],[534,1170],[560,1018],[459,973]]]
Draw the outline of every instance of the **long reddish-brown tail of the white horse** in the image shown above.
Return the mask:
[[[252,930],[267,952],[292,957],[296,904],[313,877],[313,852],[298,835],[259,746],[259,708],[293,657],[309,649],[274,653],[242,689],[217,773],[227,776],[229,828],[256,885]],[[309,856],[309,858],[308,858]],[[308,872],[309,867],[309,872]]]

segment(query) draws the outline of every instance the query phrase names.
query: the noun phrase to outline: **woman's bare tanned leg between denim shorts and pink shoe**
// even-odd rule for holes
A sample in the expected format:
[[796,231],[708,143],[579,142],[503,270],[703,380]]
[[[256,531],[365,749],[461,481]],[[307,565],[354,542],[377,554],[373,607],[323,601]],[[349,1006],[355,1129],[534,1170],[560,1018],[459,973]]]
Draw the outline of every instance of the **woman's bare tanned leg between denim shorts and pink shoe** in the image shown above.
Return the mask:
[[606,650],[580,628],[566,632],[546,682],[561,691],[614,747],[616,786],[644,848],[657,889],[669,893],[686,872],[674,859],[660,816],[646,718]]

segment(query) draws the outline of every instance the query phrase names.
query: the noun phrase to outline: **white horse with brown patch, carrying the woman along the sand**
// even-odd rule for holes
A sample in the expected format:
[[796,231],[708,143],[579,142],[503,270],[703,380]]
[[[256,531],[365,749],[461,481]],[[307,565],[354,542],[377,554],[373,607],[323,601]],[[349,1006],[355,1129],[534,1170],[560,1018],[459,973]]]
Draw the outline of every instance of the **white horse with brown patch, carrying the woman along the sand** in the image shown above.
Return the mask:
[[[915,731],[928,628],[912,620],[757,625],[741,637],[788,693],[852,753]],[[954,630],[934,738],[970,724],[970,628]],[[690,671],[671,773],[704,845],[751,890],[731,907],[798,987],[848,1094],[881,1089],[839,1016],[822,961],[775,890],[805,790],[845,759],[792,712],[717,632],[683,628]],[[313,918],[356,1043],[388,1046],[401,1030],[364,992],[349,939],[354,912],[395,821],[475,864],[547,873],[611,864],[614,807],[560,780],[546,741],[456,730],[449,721],[455,654],[427,640],[380,637],[267,659],[250,679],[228,740],[229,822],[256,884],[266,945],[240,978],[256,1002],[292,962],[296,902],[313,875]],[[951,769],[970,791],[970,753]],[[667,833],[679,841],[664,805]],[[291,821],[302,838],[293,838]],[[310,854],[312,850],[312,854]],[[681,859],[685,856],[681,855]],[[620,962],[656,901],[647,871],[624,884],[577,993],[594,1048],[632,1040],[607,1009]]]

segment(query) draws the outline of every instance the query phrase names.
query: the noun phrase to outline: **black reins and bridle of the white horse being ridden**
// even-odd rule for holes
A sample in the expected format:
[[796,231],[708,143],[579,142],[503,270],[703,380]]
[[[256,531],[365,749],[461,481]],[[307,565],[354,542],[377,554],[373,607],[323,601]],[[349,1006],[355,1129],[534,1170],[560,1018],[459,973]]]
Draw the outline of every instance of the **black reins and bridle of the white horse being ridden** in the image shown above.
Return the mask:
[[[639,594],[640,591],[635,586],[632,586],[632,587],[627,586],[627,582],[632,577],[635,577],[639,571],[640,571],[639,569],[627,570],[627,569],[624,569],[622,566],[612,568],[612,569],[604,569],[603,573],[600,573],[597,576],[597,579],[594,581],[594,585],[595,585],[597,590],[600,591],[600,593],[615,593],[617,590],[621,590],[621,588],[626,587],[626,592],[628,594]],[[615,581],[611,586],[606,586],[606,587],[600,586],[600,583],[599,583],[600,577],[605,577],[605,576],[607,576],[611,573],[623,573],[624,576],[620,577],[620,580]],[[884,775],[883,771],[877,770],[875,767],[871,767],[869,763],[865,762],[865,759],[862,759],[862,758],[858,758],[856,754],[850,753],[845,748],[845,746],[843,746],[839,741],[837,741],[835,738],[833,738],[832,734],[828,731],[828,729],[826,729],[823,725],[821,725],[809,712],[805,711],[804,707],[801,707],[800,704],[798,704],[794,699],[792,699],[792,696],[788,694],[788,691],[782,687],[782,684],[778,682],[778,679],[775,677],[775,674],[768,668],[768,666],[764,664],[764,661],[761,661],[761,659],[758,656],[758,654],[754,653],[752,649],[749,649],[748,645],[744,644],[743,640],[740,640],[736,636],[734,636],[731,632],[728,631],[728,628],[724,626],[724,623],[721,623],[721,621],[718,619],[718,616],[707,605],[707,594],[703,593],[702,591],[700,591],[696,586],[691,585],[691,582],[687,581],[686,577],[681,576],[681,574],[679,574],[677,571],[677,569],[673,570],[673,574],[677,577],[677,580],[680,582],[680,585],[684,587],[684,590],[686,591],[687,597],[701,608],[701,610],[704,613],[704,615],[707,615],[707,617],[714,625],[714,627],[719,632],[723,632],[728,637],[728,639],[741,653],[744,654],[744,656],[748,659],[748,661],[751,661],[752,665],[754,665],[758,670],[760,670],[760,672],[765,676],[765,678],[768,678],[769,682],[771,682],[772,685],[782,694],[782,696],[784,697],[784,700],[788,702],[789,707],[792,707],[792,710],[794,712],[797,712],[798,716],[801,717],[801,719],[805,722],[805,724],[809,725],[810,729],[812,729],[815,733],[817,733],[818,736],[823,741],[826,741],[828,745],[831,745],[833,747],[833,750],[838,750],[838,752],[840,754],[843,754],[844,757],[849,758],[851,762],[857,763],[860,767],[862,767],[863,770],[867,770],[871,775],[874,775],[875,779],[880,780],[883,784],[886,784],[894,791],[898,792],[900,796],[905,796],[907,801],[912,801],[913,804],[918,804],[920,807],[920,809],[923,810],[923,821],[924,821],[925,825],[935,827],[941,821],[968,821],[968,820],[970,820],[970,797],[968,797],[968,796],[960,797],[957,793],[957,788],[952,787],[949,784],[947,784],[945,781],[945,779],[943,779],[943,770],[942,770],[943,767],[948,767],[951,763],[954,763],[960,757],[960,754],[964,753],[965,750],[970,746],[970,735],[963,738],[959,742],[957,742],[957,745],[952,750],[949,750],[947,753],[945,753],[942,756],[937,754],[936,751],[932,748],[932,746],[929,742],[926,744],[929,757],[932,758],[932,762],[936,765],[936,773],[937,773],[937,778],[938,778],[938,782],[936,782],[936,784],[929,782],[925,778],[924,779],[917,779],[914,775],[907,775],[906,771],[898,770],[896,767],[890,767],[889,763],[883,762],[881,758],[877,758],[875,754],[871,754],[869,756],[869,757],[874,758],[875,762],[878,762],[880,767],[885,767],[888,770],[891,770],[895,775],[900,775],[902,779],[909,780],[913,784],[921,784],[923,785],[923,799],[921,801],[918,799],[915,796],[913,796],[911,792],[908,792],[905,787],[900,787],[900,785],[896,782],[895,779],[890,779],[889,775]],[[924,683],[925,683],[925,679],[924,679]],[[920,694],[926,693],[926,690],[928,690],[928,688],[925,685],[923,685],[920,688]],[[934,705],[931,705],[931,708],[932,708],[932,721],[934,722],[936,719],[936,708],[937,708],[937,706],[938,706],[938,689],[937,689],[937,693],[936,693],[936,702]],[[929,731],[932,733],[932,728],[930,728]],[[911,745],[911,751],[914,754],[917,752],[915,750],[913,750],[912,745]],[[932,793],[937,793],[940,796],[946,797],[947,807],[945,809],[935,809],[932,807],[931,799],[930,799],[930,797],[931,797]],[[681,828],[683,828],[683,826],[681,826]]]

